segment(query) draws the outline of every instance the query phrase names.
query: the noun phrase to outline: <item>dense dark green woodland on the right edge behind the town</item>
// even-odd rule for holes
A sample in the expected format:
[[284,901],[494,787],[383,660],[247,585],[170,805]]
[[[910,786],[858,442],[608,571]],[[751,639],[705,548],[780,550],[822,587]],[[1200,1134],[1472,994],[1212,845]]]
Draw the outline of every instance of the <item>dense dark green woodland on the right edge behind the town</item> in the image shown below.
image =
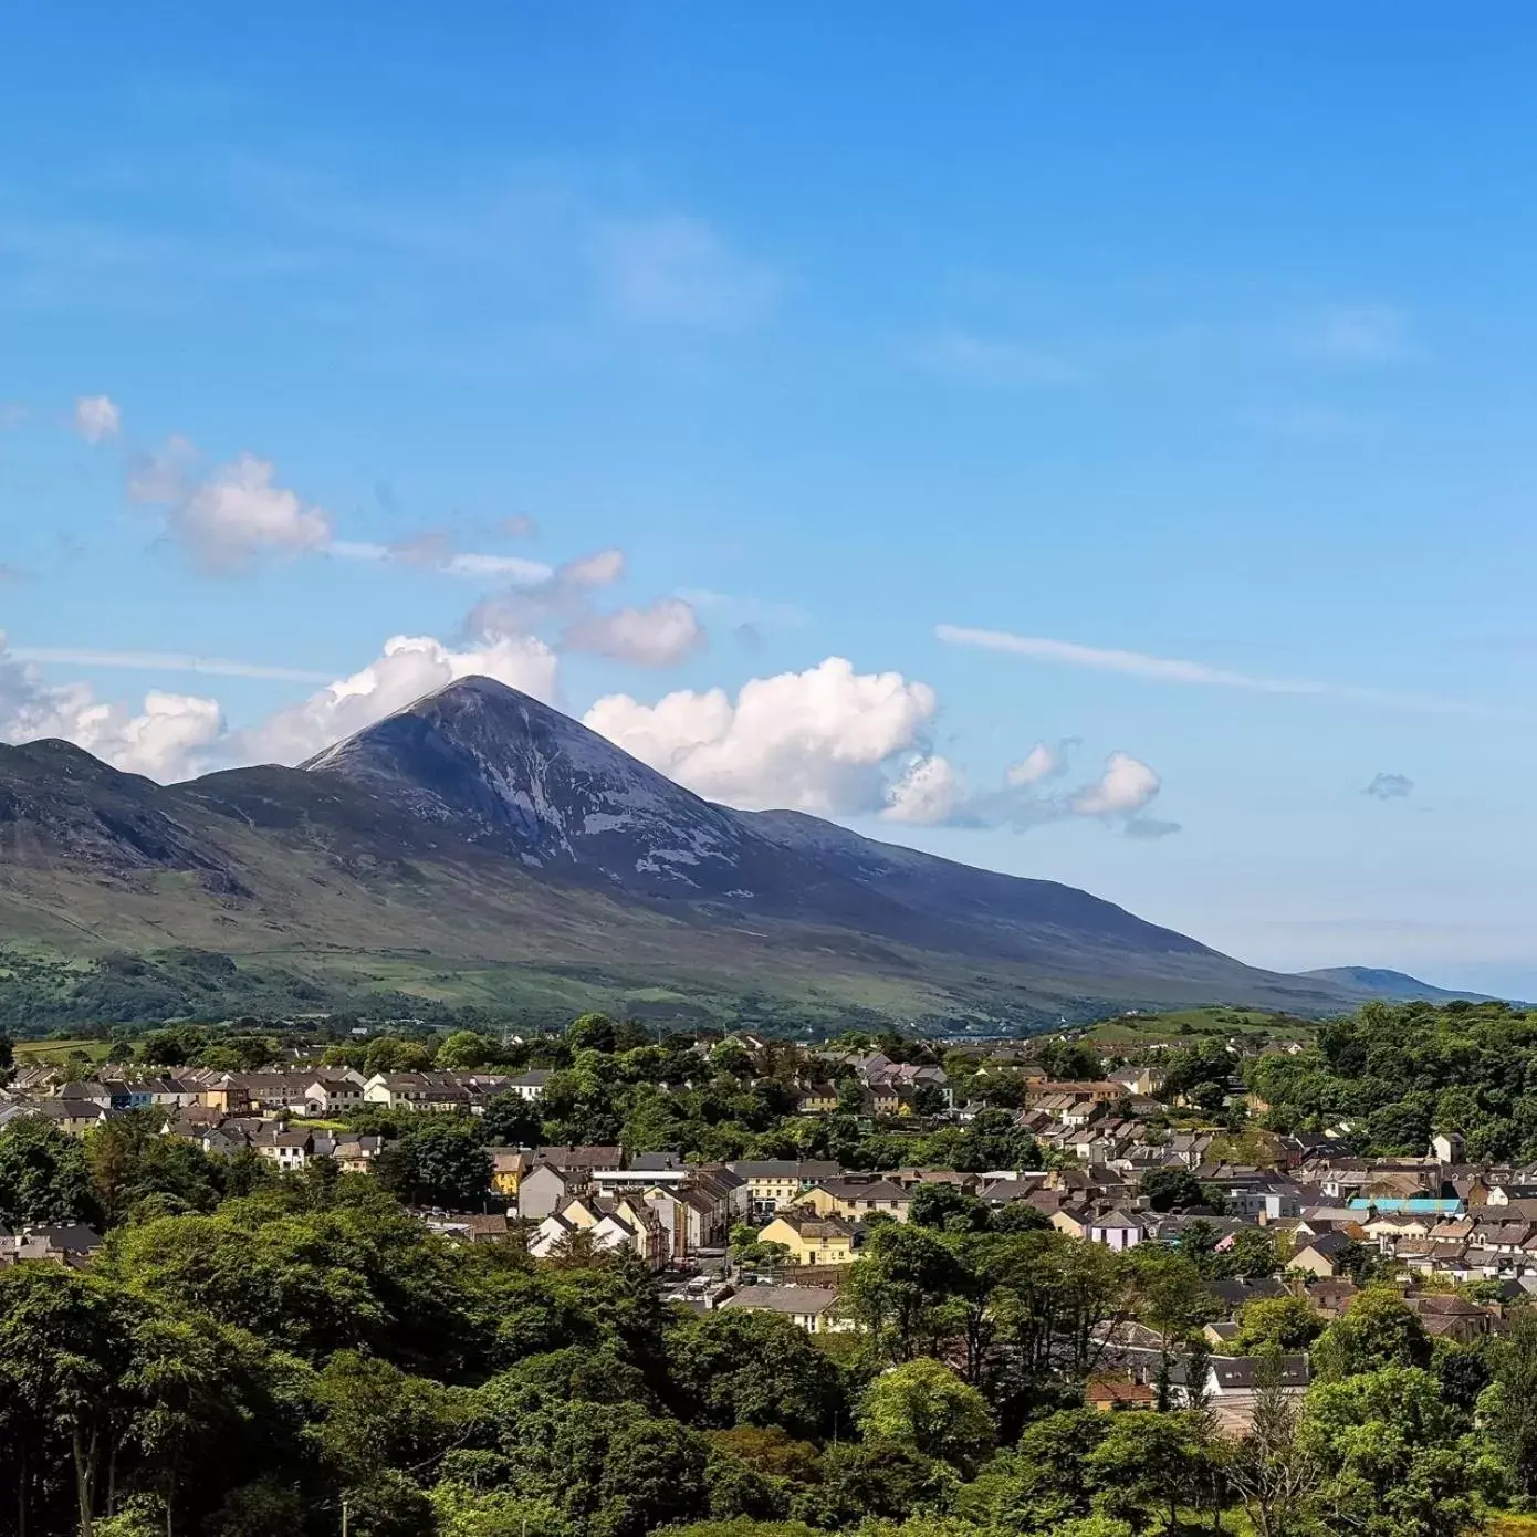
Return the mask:
[[1537,1160],[1537,1013],[1506,1004],[1366,1004],[1297,1056],[1254,1057],[1245,1077],[1279,1131],[1345,1124],[1380,1156],[1456,1131],[1469,1162]]

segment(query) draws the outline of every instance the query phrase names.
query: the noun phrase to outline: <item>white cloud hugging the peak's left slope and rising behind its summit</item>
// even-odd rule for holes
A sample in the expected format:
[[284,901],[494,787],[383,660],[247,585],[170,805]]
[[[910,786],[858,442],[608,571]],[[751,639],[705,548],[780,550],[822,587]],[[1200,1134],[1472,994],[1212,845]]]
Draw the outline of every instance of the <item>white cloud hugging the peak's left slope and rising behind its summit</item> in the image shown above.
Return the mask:
[[261,725],[235,733],[223,744],[223,753],[238,762],[297,764],[426,693],[476,675],[550,699],[556,658],[532,636],[504,636],[452,650],[430,636],[397,635],[367,667],[303,704],[278,710]]

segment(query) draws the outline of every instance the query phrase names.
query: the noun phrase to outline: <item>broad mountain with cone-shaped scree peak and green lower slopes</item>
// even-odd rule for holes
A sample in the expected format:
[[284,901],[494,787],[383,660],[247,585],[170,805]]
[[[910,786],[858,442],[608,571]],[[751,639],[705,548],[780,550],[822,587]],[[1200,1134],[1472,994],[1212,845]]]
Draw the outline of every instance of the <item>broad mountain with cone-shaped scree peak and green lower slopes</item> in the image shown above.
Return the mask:
[[144,958],[161,991],[192,987],[189,954],[227,956],[232,996],[549,1019],[998,1028],[1369,996],[1245,967],[1057,882],[715,805],[484,678],[300,768],[157,785],[61,742],[0,749],[0,934],[72,964]]

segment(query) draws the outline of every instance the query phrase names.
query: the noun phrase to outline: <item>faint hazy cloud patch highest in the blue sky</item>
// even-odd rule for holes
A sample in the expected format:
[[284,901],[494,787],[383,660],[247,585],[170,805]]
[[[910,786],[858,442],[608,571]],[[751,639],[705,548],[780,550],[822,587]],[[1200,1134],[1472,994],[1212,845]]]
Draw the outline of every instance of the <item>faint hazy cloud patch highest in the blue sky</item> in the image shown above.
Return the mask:
[[647,324],[739,330],[762,320],[779,292],[770,266],[733,251],[699,218],[612,221],[598,227],[590,252],[610,307]]

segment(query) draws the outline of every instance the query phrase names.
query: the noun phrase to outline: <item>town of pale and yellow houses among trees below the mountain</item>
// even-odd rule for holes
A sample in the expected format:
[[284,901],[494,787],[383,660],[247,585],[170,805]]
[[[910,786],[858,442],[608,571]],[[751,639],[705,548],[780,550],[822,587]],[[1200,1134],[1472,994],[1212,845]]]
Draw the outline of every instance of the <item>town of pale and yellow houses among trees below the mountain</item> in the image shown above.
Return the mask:
[[[1197,1266],[1203,1348],[1191,1356],[1188,1330],[1145,1316],[1097,1319],[1085,1402],[1210,1400],[1236,1432],[1263,1379],[1259,1349],[1276,1343],[1266,1317],[1285,1320],[1280,1391],[1300,1397],[1311,1373],[1297,1346],[1363,1288],[1393,1288],[1428,1339],[1460,1346],[1500,1336],[1537,1293],[1537,1168],[1471,1160],[1452,1128],[1402,1156],[1362,1156],[1343,1120],[1268,1128],[1271,1105],[1253,1085],[1316,1050],[1285,1033],[808,1047],[738,1031],[655,1044],[589,1016],[564,1037],[437,1039],[438,1064],[473,1067],[433,1065],[430,1039],[338,1047],[286,1033],[272,1041],[280,1053],[246,1070],[197,1065],[227,1057],[217,1031],[198,1037],[201,1051],[184,1033],[161,1036],[134,1054],[194,1061],[80,1076],[78,1056],[22,1056],[0,1097],[0,1150],[26,1127],[89,1144],[132,1122],[269,1174],[377,1177],[450,1240],[510,1243],[533,1260],[630,1256],[681,1306],[778,1314],[813,1334],[870,1325],[848,1282],[893,1223],[1050,1230],[1111,1254],[1150,1245]],[[254,1054],[249,1034],[240,1045]],[[377,1067],[401,1061],[413,1065]],[[756,1096],[768,1119],[747,1140],[779,1142],[785,1156],[704,1156],[687,1136],[541,1140],[546,1125],[570,1122],[584,1074],[626,1068],[652,1079],[653,1108],[705,1085]],[[504,1127],[527,1137],[504,1140]],[[833,1156],[839,1136],[847,1151]],[[433,1139],[463,1154],[455,1174],[413,1182],[398,1154]],[[101,1234],[85,1220],[26,1220],[3,1170],[0,1157],[0,1207],[12,1208],[0,1263],[88,1266]]]

